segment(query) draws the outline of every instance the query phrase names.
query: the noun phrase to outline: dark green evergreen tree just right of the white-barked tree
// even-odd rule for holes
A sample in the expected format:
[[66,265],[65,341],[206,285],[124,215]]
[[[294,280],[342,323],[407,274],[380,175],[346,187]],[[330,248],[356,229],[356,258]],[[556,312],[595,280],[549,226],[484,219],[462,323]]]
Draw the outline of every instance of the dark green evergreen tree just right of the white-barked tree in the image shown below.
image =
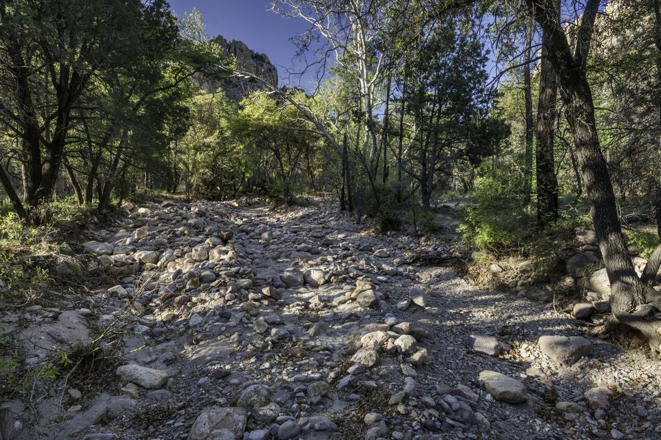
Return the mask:
[[448,19],[409,67],[411,91],[403,98],[417,129],[407,171],[426,208],[437,173],[452,176],[466,159],[474,166],[499,142],[499,130],[488,121],[492,96],[484,91],[485,62],[482,45]]

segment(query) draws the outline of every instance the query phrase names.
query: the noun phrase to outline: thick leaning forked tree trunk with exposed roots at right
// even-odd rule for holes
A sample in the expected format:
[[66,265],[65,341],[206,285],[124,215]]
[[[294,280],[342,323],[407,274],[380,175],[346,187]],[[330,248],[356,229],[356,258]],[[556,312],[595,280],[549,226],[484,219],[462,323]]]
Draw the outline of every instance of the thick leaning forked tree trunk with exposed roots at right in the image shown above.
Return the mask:
[[[639,306],[661,306],[660,294],[636,275],[620,226],[616,199],[602,154],[594,117],[592,92],[585,72],[589,40],[599,0],[588,0],[578,30],[576,52],[571,53],[567,36],[547,0],[526,0],[535,19],[549,34],[549,59],[567,109],[567,121],[576,140],[576,159],[590,205],[594,230],[611,283],[613,318],[640,331],[653,352],[660,350],[661,321],[647,316]],[[651,311],[651,310],[650,310]],[[643,316],[642,316],[643,315]]]

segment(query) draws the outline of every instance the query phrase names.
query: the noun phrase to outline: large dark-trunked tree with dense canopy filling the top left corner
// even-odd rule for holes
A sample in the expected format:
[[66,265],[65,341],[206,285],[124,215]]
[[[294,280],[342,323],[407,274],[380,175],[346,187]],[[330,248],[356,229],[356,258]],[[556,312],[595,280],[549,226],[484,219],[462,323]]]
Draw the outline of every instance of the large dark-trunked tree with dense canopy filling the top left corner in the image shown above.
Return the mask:
[[50,199],[72,111],[92,76],[132,49],[138,0],[0,1],[1,118],[21,140],[23,200]]

